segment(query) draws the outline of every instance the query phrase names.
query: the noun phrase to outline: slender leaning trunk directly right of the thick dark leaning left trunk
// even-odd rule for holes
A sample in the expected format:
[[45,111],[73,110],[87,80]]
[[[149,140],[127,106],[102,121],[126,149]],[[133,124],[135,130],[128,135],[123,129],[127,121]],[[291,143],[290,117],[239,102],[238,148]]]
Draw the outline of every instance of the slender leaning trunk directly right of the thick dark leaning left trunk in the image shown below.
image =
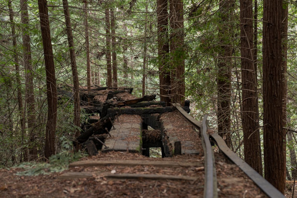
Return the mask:
[[[75,58],[75,48],[73,44],[73,35],[72,28],[70,22],[70,14],[68,9],[68,1],[63,0],[64,6],[64,15],[65,15],[65,23],[66,23],[66,32],[69,46],[69,54],[70,54],[70,62],[71,62],[71,70],[73,77],[73,95],[74,95],[74,121],[73,124],[75,126],[80,126],[80,97],[79,97],[79,80],[78,80],[78,72],[76,67],[76,58]],[[80,130],[75,130],[74,137],[77,138],[80,135]],[[78,145],[75,147],[77,151],[80,149]]]

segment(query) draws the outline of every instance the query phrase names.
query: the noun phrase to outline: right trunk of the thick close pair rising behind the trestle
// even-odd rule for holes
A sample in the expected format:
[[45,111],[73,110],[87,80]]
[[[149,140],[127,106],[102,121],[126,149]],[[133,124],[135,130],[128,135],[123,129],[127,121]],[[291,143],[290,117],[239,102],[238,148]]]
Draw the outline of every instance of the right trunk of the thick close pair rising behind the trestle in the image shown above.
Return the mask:
[[183,0],[169,0],[170,7],[170,55],[172,102],[184,103],[184,3]]

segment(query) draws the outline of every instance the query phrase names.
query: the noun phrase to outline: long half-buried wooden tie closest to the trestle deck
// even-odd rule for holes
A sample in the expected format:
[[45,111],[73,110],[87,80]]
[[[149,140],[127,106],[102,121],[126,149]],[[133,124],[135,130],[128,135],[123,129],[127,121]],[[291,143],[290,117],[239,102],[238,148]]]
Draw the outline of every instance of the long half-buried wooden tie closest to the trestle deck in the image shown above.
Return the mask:
[[92,166],[155,166],[155,167],[201,167],[202,163],[175,161],[143,161],[143,160],[112,160],[112,161],[75,161],[69,167],[92,167]]

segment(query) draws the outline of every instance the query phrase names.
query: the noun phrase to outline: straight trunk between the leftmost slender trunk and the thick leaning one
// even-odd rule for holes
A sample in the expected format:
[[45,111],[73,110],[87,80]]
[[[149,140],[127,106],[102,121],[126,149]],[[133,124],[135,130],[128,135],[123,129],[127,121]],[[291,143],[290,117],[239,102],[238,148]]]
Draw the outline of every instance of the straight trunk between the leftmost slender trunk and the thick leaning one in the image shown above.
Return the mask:
[[[33,88],[34,71],[32,67],[31,45],[30,45],[30,28],[29,28],[29,14],[26,0],[20,0],[21,7],[21,22],[23,31],[23,51],[24,51],[24,66],[25,66],[25,80],[26,80],[26,102],[27,102],[27,125],[29,129],[29,154],[30,159],[37,158],[37,146],[35,142],[34,125],[35,125],[35,99]],[[28,159],[24,159],[24,161]]]

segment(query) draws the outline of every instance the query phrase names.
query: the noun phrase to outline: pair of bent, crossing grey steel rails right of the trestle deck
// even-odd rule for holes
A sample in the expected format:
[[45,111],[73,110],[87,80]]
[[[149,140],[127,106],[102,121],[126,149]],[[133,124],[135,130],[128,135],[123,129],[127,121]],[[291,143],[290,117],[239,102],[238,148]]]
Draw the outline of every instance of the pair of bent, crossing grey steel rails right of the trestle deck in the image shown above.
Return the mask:
[[220,152],[224,153],[228,159],[236,164],[255,184],[270,198],[283,198],[284,195],[265,180],[258,172],[238,157],[226,145],[225,141],[216,133],[207,134],[207,115],[204,116],[203,122],[195,120],[191,115],[183,110],[180,104],[175,103],[173,107],[176,108],[187,122],[200,131],[201,140],[204,150],[204,163],[205,163],[205,185],[204,185],[204,198],[217,198],[217,173],[215,168],[214,153],[211,148],[210,139],[213,140]]

